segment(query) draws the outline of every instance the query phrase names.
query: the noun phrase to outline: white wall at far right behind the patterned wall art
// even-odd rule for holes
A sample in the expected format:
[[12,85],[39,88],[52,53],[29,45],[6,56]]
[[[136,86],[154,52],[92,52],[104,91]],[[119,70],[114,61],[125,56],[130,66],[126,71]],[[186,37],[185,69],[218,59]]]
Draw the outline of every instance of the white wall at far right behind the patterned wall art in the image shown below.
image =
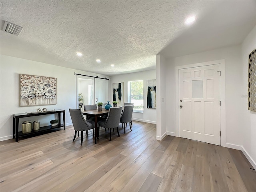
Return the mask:
[[242,84],[240,102],[242,108],[242,146],[244,154],[256,168],[256,112],[248,110],[248,55],[256,48],[256,26],[242,43]]

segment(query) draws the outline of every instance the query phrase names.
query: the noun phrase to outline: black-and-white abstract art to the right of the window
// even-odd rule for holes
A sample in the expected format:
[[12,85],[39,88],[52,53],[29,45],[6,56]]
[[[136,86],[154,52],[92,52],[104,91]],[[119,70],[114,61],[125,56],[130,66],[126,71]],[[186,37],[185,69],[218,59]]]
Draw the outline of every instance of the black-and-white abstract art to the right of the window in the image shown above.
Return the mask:
[[147,108],[156,109],[156,79],[147,80]]

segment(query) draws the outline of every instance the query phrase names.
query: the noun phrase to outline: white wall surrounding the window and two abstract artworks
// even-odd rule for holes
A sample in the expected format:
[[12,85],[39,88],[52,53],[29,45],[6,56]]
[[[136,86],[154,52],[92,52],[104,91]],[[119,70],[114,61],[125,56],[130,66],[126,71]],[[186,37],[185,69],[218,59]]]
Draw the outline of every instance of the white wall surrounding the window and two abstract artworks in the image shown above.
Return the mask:
[[[144,110],[143,113],[133,113],[133,120],[149,122],[156,124],[156,109],[147,108],[147,80],[156,79],[156,70],[148,70],[143,72],[122,74],[110,77],[110,90],[112,90],[113,83],[124,82],[124,102],[128,101],[128,81],[143,80],[143,97],[144,97]],[[157,90],[157,88],[156,88]],[[110,104],[112,104],[113,96],[112,91],[109,91]],[[156,106],[157,107],[157,106]]]

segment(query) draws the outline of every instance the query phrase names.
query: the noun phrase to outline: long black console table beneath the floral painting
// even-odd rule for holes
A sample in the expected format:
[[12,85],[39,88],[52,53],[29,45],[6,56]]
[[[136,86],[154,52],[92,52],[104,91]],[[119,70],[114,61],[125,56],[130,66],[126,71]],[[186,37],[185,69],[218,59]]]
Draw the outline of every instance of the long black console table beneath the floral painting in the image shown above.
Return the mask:
[[[40,127],[37,131],[31,131],[30,133],[22,133],[22,131],[19,132],[19,119],[24,117],[32,117],[32,116],[40,116],[40,115],[48,115],[48,114],[56,114],[58,113],[58,125],[56,126],[44,126]],[[63,124],[60,124],[60,114],[62,113],[63,116]],[[60,127],[64,127],[64,130],[66,129],[66,122],[65,122],[65,110],[62,109],[56,109],[54,111],[46,111],[46,112],[38,112],[38,113],[19,113],[19,114],[13,114],[13,138],[15,138],[15,141],[18,142],[18,137],[22,136],[28,136],[33,134],[39,134],[43,132],[47,132],[51,129],[56,129]]]

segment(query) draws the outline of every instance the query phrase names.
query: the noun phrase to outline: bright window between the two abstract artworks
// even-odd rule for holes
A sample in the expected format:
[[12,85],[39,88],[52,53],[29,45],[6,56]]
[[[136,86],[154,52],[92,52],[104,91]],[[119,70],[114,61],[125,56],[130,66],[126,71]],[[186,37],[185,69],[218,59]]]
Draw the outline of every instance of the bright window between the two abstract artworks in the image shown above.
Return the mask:
[[143,80],[128,82],[128,102],[134,103],[134,112],[143,112]]

